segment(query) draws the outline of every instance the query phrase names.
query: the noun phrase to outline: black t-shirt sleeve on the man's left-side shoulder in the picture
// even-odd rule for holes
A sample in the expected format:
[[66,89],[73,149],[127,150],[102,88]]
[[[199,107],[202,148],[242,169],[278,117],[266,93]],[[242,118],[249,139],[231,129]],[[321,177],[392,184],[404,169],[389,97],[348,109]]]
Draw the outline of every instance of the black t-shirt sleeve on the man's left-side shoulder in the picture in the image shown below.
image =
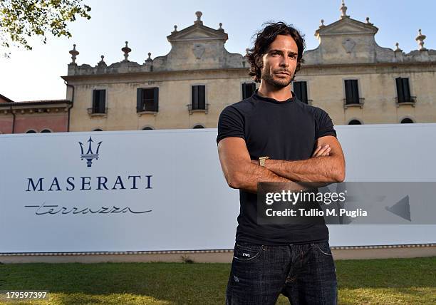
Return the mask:
[[232,105],[224,108],[219,115],[217,144],[220,140],[229,137],[238,137],[245,140],[244,116]]

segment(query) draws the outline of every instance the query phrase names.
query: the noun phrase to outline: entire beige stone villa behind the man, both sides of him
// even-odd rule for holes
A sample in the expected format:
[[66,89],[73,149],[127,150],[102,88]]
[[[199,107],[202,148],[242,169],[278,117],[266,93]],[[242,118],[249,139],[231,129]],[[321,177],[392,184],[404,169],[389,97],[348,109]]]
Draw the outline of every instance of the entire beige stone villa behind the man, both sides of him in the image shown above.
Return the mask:
[[[315,32],[319,46],[303,54],[294,93],[326,110],[336,125],[436,122],[436,50],[424,47],[404,53],[375,42],[378,28],[351,19],[342,4],[341,17]],[[216,128],[221,110],[251,95],[254,84],[242,54],[229,53],[222,29],[203,24],[202,13],[186,29],[167,36],[171,51],[144,63],[128,60],[96,66],[76,63],[70,51],[67,99],[71,131]],[[249,33],[247,33],[248,35]],[[251,34],[251,33],[250,33]]]

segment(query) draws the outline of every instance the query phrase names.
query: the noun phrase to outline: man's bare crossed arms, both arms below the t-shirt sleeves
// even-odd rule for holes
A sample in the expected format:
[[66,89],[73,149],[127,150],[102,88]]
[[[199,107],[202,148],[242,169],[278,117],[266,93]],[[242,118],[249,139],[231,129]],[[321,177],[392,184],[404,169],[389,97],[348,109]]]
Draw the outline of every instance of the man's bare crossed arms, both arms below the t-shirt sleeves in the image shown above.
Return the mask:
[[316,150],[307,160],[266,160],[261,167],[251,160],[245,140],[224,138],[218,143],[219,162],[229,187],[257,192],[257,182],[290,182],[294,191],[322,187],[345,179],[341,144],[333,135],[316,140]]

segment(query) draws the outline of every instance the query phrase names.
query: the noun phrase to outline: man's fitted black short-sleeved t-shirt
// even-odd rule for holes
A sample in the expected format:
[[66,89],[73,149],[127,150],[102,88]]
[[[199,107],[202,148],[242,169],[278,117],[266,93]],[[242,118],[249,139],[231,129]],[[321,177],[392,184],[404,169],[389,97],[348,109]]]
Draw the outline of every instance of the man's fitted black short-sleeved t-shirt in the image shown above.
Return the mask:
[[[296,97],[265,98],[256,90],[250,98],[222,110],[217,143],[228,137],[243,138],[251,160],[264,155],[274,160],[306,160],[315,150],[316,139],[325,135],[336,137],[326,111]],[[239,201],[237,242],[282,245],[328,240],[326,224],[257,224],[257,195],[239,190]]]

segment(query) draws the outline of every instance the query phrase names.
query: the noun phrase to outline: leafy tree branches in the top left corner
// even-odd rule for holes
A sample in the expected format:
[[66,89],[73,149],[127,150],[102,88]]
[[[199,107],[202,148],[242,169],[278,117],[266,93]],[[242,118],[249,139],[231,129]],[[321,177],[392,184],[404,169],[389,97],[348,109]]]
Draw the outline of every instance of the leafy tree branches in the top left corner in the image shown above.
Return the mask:
[[[27,38],[47,33],[70,38],[67,22],[76,16],[90,19],[90,6],[82,0],[0,0],[0,43],[9,48],[11,43],[31,50]],[[7,54],[5,54],[8,56]]]

